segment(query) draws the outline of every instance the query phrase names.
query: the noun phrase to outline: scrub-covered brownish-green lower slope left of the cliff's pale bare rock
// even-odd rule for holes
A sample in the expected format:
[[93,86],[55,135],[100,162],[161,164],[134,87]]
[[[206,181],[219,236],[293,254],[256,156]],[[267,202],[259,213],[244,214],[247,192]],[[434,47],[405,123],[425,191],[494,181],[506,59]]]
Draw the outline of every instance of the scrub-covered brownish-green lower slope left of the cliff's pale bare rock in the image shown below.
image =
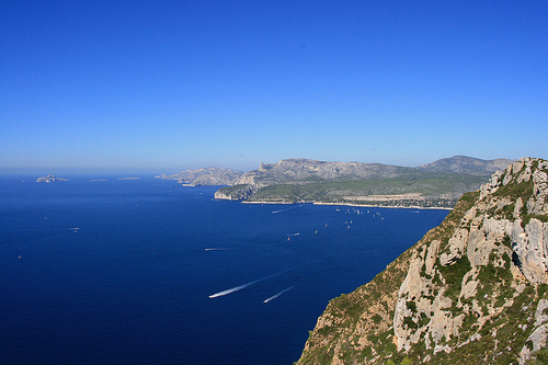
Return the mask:
[[[345,364],[363,363],[374,355],[376,358],[391,358],[396,352],[391,326],[393,307],[413,251],[434,239],[448,240],[478,196],[477,192],[465,194],[439,226],[426,232],[384,272],[356,290],[332,299],[310,333],[297,364],[331,364],[335,350],[341,352]],[[341,343],[345,345],[341,346]]]

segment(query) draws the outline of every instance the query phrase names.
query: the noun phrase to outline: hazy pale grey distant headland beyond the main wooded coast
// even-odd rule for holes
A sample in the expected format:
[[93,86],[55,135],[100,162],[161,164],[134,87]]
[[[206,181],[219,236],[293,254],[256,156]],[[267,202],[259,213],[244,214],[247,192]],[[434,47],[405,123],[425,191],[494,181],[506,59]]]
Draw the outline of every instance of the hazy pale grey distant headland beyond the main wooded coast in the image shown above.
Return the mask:
[[156,178],[178,180],[180,184],[187,186],[197,185],[231,185],[243,172],[224,168],[204,168],[197,170],[185,170],[180,173]]

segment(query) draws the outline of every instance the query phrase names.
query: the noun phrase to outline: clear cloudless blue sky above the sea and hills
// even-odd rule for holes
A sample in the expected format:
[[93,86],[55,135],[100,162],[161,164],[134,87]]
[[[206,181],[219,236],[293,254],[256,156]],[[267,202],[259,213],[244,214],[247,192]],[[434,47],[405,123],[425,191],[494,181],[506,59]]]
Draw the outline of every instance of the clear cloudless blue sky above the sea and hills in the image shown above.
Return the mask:
[[548,158],[548,2],[0,2],[0,172]]

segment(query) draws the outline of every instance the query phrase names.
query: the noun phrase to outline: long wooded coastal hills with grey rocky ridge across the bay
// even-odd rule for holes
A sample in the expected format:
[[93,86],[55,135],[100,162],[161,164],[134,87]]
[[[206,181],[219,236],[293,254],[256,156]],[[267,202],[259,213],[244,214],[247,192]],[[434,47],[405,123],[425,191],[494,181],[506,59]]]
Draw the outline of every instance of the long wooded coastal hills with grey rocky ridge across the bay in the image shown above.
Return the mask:
[[217,191],[215,197],[249,203],[453,207],[464,193],[488,181],[500,161],[453,157],[407,168],[287,159],[261,163],[258,170],[243,173],[231,186]]

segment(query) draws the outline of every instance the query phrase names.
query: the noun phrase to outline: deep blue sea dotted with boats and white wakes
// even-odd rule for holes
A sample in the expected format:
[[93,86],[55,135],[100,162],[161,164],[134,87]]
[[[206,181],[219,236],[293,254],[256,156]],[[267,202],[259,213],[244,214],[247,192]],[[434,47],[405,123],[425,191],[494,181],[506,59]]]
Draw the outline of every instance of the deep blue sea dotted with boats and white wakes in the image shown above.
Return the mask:
[[35,180],[0,178],[2,364],[292,364],[331,298],[447,214]]

